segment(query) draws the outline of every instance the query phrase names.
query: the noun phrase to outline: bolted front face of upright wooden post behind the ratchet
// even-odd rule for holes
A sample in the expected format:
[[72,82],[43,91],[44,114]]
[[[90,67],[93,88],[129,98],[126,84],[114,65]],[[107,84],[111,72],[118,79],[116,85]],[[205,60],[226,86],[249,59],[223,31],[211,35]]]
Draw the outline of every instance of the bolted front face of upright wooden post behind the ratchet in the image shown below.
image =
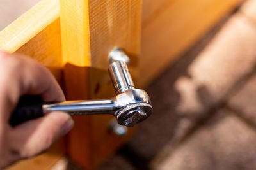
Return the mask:
[[[97,68],[90,73],[92,99],[115,95],[106,71],[109,66],[108,54],[115,46],[120,46],[129,53],[131,57],[129,69],[136,83],[137,62],[140,55],[141,3],[141,0],[90,1],[91,60],[92,67]],[[99,88],[93,90],[95,87]],[[92,117],[93,164],[100,164],[134,133],[134,129],[129,129],[127,135],[122,137],[109,133],[111,120],[113,117],[106,115]]]

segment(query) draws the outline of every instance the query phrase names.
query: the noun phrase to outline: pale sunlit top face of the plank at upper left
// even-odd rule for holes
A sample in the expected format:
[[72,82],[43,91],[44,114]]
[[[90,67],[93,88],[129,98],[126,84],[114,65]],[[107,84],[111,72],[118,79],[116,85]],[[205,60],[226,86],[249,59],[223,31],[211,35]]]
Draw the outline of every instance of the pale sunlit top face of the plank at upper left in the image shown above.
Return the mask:
[[42,0],[0,32],[0,49],[15,52],[59,17],[58,0]]

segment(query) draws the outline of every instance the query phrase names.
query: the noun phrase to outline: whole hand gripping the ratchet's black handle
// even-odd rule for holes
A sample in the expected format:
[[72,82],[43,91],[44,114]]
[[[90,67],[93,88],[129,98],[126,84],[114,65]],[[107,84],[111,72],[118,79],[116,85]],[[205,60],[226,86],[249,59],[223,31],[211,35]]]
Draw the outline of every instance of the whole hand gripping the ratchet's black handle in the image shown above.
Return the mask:
[[51,112],[11,127],[8,120],[24,94],[40,95],[45,102],[65,101],[47,68],[29,57],[0,51],[0,169],[44,152],[74,125],[68,114]]

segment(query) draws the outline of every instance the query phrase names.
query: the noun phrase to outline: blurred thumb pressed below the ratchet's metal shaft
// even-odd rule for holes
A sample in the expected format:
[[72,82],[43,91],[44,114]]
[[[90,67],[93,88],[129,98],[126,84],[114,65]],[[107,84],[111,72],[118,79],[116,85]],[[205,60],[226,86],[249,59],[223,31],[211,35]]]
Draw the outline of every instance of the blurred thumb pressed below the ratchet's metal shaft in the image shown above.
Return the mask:
[[67,113],[52,112],[12,129],[12,149],[22,159],[47,150],[58,138],[67,134],[74,121]]

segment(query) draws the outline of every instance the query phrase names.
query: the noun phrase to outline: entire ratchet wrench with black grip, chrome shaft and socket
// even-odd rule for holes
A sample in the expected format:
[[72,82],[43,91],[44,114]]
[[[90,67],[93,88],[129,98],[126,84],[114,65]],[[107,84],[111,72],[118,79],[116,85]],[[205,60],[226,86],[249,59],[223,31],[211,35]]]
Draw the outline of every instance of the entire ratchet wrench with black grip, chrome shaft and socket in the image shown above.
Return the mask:
[[128,127],[148,118],[152,113],[150,98],[144,90],[135,89],[127,64],[124,61],[113,62],[108,71],[115,88],[115,97],[43,104],[40,96],[22,96],[11,115],[10,125],[42,117],[51,111],[64,111],[70,115],[109,114],[116,117],[118,124]]

